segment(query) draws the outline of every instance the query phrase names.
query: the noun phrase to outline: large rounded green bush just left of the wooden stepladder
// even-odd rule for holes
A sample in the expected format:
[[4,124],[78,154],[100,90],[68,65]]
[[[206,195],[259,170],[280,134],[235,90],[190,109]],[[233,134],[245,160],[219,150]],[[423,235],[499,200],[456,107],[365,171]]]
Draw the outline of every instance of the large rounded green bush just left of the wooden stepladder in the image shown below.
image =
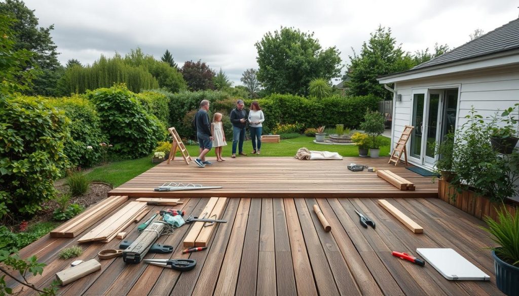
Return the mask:
[[98,108],[101,129],[121,156],[145,156],[165,138],[166,127],[146,111],[124,84],[89,91],[87,96]]

